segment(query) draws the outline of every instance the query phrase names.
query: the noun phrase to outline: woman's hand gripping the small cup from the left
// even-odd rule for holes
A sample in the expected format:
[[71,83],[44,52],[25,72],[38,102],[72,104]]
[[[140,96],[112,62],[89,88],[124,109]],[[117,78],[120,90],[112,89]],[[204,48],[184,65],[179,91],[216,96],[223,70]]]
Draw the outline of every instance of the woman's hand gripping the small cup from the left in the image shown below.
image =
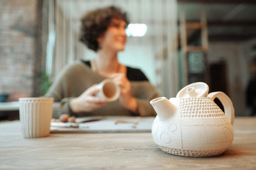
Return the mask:
[[100,89],[98,88],[97,84],[95,84],[83,92],[79,97],[73,98],[73,100],[70,102],[73,112],[89,112],[95,110],[96,108],[105,106],[108,101],[97,97],[96,94],[98,91],[100,91]]

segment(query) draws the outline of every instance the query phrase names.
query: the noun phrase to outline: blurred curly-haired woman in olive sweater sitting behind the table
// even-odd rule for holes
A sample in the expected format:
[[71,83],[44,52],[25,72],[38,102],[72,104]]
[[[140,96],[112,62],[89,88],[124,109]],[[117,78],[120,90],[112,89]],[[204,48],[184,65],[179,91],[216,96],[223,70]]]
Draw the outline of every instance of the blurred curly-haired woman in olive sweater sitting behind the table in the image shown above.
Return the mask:
[[[129,23],[120,8],[109,6],[90,11],[82,18],[80,40],[97,52],[95,60],[77,61],[63,69],[46,97],[53,97],[53,117],[63,113],[86,115],[156,115],[149,101],[159,97],[139,69],[118,62],[124,50]],[[110,78],[119,86],[119,100],[107,102],[96,96],[97,86]]]

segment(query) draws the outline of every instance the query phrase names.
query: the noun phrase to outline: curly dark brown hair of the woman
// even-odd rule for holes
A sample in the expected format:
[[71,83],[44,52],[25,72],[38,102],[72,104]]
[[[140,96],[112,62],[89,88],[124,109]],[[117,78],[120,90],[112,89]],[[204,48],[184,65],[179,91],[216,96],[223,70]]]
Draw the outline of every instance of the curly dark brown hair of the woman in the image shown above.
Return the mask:
[[127,25],[129,24],[127,13],[116,6],[97,8],[86,13],[81,19],[80,41],[97,52],[99,50],[97,38],[105,33],[112,19],[122,20]]

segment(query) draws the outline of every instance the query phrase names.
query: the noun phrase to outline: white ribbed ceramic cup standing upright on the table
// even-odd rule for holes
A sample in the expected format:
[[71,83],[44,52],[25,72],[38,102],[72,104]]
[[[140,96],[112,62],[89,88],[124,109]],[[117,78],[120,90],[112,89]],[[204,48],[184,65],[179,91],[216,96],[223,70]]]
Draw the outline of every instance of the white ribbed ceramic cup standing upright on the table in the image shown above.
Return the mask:
[[50,135],[53,98],[19,98],[21,131],[25,138]]

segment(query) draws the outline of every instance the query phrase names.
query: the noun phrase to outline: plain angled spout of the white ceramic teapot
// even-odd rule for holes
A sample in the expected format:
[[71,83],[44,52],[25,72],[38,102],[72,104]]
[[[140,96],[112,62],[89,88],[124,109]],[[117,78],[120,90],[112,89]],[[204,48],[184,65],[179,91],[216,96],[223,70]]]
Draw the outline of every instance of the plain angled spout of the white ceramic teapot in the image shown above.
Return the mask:
[[150,101],[150,103],[160,120],[171,118],[171,115],[174,115],[176,111],[176,106],[174,106],[174,104],[171,103],[166,97],[154,98]]

